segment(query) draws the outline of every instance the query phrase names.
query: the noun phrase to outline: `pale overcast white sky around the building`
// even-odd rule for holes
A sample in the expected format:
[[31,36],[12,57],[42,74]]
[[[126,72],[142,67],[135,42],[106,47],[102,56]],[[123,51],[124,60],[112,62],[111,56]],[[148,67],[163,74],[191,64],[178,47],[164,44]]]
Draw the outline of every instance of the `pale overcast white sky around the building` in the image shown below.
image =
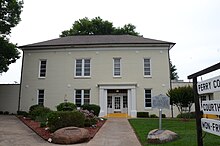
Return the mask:
[[[176,43],[170,58],[180,80],[220,62],[219,0],[24,0],[23,6],[9,37],[18,46],[58,38],[76,20],[100,16],[115,27],[131,23],[145,38]],[[21,64],[22,57],[0,75],[0,84],[20,83]]]

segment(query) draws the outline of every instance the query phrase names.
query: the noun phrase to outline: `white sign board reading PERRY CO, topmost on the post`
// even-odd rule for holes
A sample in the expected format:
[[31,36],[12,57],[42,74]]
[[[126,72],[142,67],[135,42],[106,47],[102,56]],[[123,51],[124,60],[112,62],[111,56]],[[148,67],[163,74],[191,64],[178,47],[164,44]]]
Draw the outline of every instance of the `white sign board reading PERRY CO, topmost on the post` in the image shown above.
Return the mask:
[[220,76],[197,83],[197,91],[199,94],[220,91]]

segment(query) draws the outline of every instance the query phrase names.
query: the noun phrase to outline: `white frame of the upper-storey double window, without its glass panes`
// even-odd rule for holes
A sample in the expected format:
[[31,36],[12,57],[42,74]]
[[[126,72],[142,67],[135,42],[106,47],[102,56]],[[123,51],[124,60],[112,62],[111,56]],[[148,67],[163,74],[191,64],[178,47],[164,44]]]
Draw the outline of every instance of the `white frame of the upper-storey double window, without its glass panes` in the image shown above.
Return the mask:
[[[77,75],[77,61],[81,60],[81,75]],[[89,68],[86,66],[86,60],[89,60]],[[85,75],[87,73],[86,69],[89,69],[89,75]],[[75,59],[75,69],[74,69],[74,77],[75,78],[90,78],[91,77],[91,58],[77,58]]]

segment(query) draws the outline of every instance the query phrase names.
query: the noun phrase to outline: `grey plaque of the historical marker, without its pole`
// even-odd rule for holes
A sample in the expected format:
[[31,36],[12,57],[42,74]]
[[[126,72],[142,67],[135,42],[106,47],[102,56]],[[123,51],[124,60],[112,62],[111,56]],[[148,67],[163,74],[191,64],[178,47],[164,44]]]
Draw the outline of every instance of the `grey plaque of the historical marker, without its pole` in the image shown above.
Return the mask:
[[166,95],[157,95],[152,97],[152,108],[164,109],[170,108],[170,98]]

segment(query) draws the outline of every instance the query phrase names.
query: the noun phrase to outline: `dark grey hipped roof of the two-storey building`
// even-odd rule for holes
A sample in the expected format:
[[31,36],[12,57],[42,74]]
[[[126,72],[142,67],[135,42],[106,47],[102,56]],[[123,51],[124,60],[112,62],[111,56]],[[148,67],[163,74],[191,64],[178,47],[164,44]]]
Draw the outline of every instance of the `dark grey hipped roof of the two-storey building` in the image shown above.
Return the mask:
[[74,47],[74,46],[89,46],[89,45],[129,45],[129,44],[167,44],[175,45],[172,42],[148,39],[141,36],[132,35],[80,35],[67,36],[39,43],[20,46],[22,50],[47,48],[47,47]]

